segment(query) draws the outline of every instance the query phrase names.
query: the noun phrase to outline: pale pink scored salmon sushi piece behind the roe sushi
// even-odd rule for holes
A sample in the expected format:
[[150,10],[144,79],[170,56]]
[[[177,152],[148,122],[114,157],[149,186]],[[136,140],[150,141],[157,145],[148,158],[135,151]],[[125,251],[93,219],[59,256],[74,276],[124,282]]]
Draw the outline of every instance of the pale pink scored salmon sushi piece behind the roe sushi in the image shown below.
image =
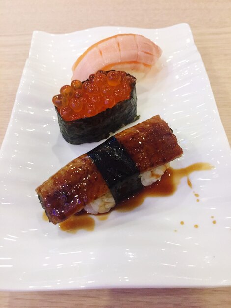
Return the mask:
[[[138,34],[117,34],[90,46],[73,64],[72,80],[86,80],[98,70],[123,70],[142,77],[162,54],[159,46]],[[140,76],[142,75],[142,76]]]

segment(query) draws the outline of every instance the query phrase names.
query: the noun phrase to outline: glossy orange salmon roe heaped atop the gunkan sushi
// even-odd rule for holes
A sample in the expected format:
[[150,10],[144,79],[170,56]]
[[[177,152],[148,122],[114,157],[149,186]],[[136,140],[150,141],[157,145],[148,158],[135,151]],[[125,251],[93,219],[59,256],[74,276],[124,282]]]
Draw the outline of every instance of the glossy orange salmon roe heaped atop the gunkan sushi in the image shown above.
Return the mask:
[[52,102],[65,121],[92,117],[129,99],[135,81],[135,77],[124,71],[99,70],[83,83],[73,80],[70,86],[61,87]]

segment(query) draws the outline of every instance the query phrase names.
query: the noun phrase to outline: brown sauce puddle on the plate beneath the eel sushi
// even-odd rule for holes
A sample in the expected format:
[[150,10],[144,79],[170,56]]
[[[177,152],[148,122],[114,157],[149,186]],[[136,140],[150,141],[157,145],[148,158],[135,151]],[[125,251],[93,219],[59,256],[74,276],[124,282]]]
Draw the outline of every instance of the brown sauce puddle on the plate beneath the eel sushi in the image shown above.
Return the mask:
[[[189,179],[189,175],[195,171],[211,170],[214,167],[209,163],[195,163],[186,168],[173,169],[170,167],[166,170],[159,182],[144,187],[138,194],[127,199],[126,201],[116,205],[114,211],[129,212],[139,207],[147,197],[166,197],[173,195],[183,177],[187,177],[187,185],[192,188],[193,185]],[[194,192],[195,196],[199,196]],[[199,201],[199,199],[197,199]],[[95,215],[98,220],[106,220],[110,213]],[[47,220],[47,219],[46,219]],[[93,231],[95,228],[95,220],[92,215],[87,213],[73,215],[69,219],[61,222],[59,227],[62,231],[76,233],[78,230],[84,229]]]

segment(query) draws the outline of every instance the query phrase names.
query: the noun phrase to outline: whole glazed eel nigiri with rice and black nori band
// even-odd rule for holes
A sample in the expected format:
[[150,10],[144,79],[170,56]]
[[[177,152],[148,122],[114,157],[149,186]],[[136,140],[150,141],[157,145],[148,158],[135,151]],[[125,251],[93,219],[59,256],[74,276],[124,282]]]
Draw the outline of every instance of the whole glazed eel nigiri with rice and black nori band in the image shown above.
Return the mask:
[[54,224],[82,210],[105,213],[160,180],[169,163],[182,154],[173,131],[157,115],[74,159],[36,192]]

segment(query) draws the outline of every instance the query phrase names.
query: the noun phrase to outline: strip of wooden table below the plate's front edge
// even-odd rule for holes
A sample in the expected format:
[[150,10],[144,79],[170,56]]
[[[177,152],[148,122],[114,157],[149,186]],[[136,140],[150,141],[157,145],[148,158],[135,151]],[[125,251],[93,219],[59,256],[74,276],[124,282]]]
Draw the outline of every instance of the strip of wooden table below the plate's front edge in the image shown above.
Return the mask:
[[2,308],[230,308],[231,288],[2,292]]

